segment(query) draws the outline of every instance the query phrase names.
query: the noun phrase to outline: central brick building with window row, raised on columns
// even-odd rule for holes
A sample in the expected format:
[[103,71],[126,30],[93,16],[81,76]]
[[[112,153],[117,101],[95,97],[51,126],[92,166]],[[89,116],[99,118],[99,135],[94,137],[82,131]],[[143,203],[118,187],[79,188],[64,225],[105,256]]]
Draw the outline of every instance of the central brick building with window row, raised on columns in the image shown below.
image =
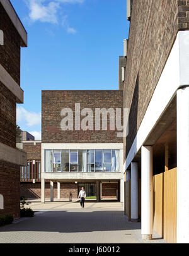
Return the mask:
[[[95,127],[96,109],[122,110],[122,99],[121,90],[42,91],[42,202],[49,195],[45,181],[50,184],[51,201],[68,198],[70,191],[77,198],[84,186],[87,196],[96,196],[98,201],[113,198],[123,202],[123,138],[111,128],[111,113],[107,129]],[[62,130],[62,119],[70,111],[74,124],[70,130]],[[91,112],[92,121],[86,121]],[[84,119],[88,127],[80,130]],[[106,117],[101,115],[102,119]]]

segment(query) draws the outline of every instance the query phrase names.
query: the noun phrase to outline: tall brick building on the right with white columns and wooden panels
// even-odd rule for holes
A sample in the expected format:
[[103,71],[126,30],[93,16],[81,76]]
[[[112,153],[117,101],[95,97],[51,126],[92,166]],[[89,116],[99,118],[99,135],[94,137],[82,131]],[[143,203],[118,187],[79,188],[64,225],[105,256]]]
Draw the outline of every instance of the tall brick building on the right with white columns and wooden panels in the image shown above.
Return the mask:
[[127,4],[125,214],[144,239],[188,243],[189,1]]

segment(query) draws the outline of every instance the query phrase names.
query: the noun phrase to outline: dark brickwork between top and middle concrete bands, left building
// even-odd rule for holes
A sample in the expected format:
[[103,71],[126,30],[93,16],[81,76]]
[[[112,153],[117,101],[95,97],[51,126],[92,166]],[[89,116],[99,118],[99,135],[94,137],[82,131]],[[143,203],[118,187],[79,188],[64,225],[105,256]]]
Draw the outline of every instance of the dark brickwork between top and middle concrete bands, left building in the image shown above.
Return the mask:
[[20,85],[20,35],[1,3],[0,30],[4,33],[4,46],[0,46],[0,64]]

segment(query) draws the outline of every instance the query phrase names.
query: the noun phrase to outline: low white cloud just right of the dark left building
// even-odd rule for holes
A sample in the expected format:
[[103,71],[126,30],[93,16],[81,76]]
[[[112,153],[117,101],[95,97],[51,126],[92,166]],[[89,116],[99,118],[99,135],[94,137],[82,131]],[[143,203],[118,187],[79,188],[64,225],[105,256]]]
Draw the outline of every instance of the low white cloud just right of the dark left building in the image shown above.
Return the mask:
[[34,126],[41,124],[41,113],[26,111],[24,107],[17,107],[16,109],[17,123],[25,123],[27,126]]

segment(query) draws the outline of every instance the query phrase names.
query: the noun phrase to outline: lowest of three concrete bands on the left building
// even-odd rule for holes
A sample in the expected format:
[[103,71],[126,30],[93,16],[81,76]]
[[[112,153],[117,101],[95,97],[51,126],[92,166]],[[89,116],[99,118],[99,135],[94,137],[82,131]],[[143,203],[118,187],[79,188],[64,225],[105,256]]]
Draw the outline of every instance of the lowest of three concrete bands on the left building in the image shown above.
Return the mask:
[[19,166],[27,166],[26,152],[20,149],[14,149],[0,142],[0,160],[18,164]]

